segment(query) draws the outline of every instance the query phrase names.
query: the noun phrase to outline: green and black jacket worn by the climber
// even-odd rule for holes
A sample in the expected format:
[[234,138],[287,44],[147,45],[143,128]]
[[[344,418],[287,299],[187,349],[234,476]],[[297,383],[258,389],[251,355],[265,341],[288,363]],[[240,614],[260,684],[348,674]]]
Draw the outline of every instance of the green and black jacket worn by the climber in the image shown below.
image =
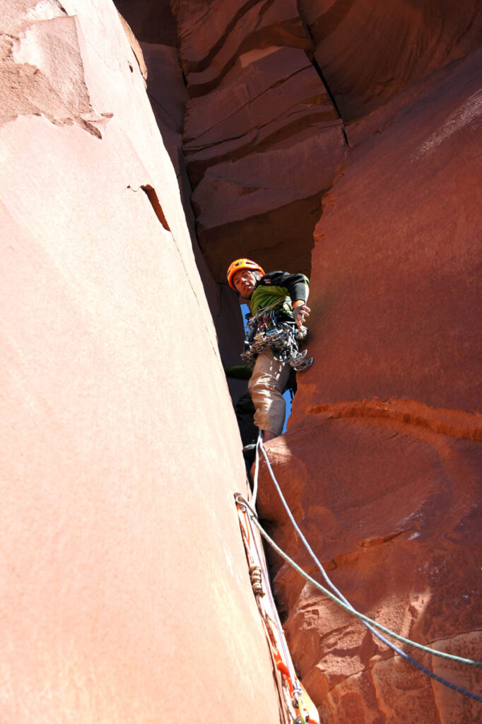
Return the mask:
[[258,281],[250,298],[251,314],[257,314],[264,307],[284,300],[283,309],[292,316],[292,302],[308,300],[310,282],[304,274],[289,274],[287,271],[269,271]]

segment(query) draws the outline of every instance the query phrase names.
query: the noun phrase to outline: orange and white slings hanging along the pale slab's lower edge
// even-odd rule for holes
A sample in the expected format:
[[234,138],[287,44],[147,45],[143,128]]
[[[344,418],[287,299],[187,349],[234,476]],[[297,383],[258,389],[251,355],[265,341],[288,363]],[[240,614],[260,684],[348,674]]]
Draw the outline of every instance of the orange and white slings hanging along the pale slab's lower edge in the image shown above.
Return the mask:
[[235,494],[234,499],[240,521],[242,542],[248,559],[251,586],[268,641],[276,680],[279,683],[280,703],[283,704],[282,711],[287,715],[286,722],[287,724],[319,724],[316,707],[297,678],[289,655],[283,627],[271,592],[266,561],[253,529],[251,518],[255,511],[240,493]]

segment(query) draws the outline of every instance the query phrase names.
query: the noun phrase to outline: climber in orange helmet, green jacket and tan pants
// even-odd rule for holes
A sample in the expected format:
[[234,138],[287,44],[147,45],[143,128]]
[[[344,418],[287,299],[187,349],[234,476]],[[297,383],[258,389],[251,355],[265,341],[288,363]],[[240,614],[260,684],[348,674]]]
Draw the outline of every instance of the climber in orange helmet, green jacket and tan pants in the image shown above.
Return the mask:
[[304,324],[310,314],[306,306],[310,282],[304,274],[265,274],[248,258],[229,265],[227,280],[240,303],[250,308],[247,353],[242,357],[254,363],[248,390],[255,407],[255,424],[266,442],[282,433],[286,413],[282,393],[290,372],[304,371],[313,362],[297,348],[307,332]]

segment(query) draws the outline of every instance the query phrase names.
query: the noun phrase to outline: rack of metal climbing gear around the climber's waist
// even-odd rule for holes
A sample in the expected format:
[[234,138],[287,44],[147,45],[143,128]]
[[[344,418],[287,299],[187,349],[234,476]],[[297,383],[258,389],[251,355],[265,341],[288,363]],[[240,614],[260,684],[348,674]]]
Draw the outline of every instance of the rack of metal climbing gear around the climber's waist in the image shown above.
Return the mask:
[[[299,345],[305,340],[308,329],[297,328],[284,311],[284,300],[264,307],[257,314],[246,315],[246,341],[242,361],[254,364],[263,350],[271,349],[280,362],[289,364],[297,372],[305,372],[313,364],[313,357],[307,358],[308,350],[300,352]],[[284,314],[283,314],[284,311]]]

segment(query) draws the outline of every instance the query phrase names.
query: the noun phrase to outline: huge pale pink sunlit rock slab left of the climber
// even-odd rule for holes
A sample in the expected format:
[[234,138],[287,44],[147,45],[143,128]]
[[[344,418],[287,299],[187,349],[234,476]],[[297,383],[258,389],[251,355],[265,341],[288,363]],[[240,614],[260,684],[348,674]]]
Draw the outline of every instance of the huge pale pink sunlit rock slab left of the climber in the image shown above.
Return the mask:
[[138,63],[106,0],[11,1],[0,38],[1,720],[275,724],[240,438]]

